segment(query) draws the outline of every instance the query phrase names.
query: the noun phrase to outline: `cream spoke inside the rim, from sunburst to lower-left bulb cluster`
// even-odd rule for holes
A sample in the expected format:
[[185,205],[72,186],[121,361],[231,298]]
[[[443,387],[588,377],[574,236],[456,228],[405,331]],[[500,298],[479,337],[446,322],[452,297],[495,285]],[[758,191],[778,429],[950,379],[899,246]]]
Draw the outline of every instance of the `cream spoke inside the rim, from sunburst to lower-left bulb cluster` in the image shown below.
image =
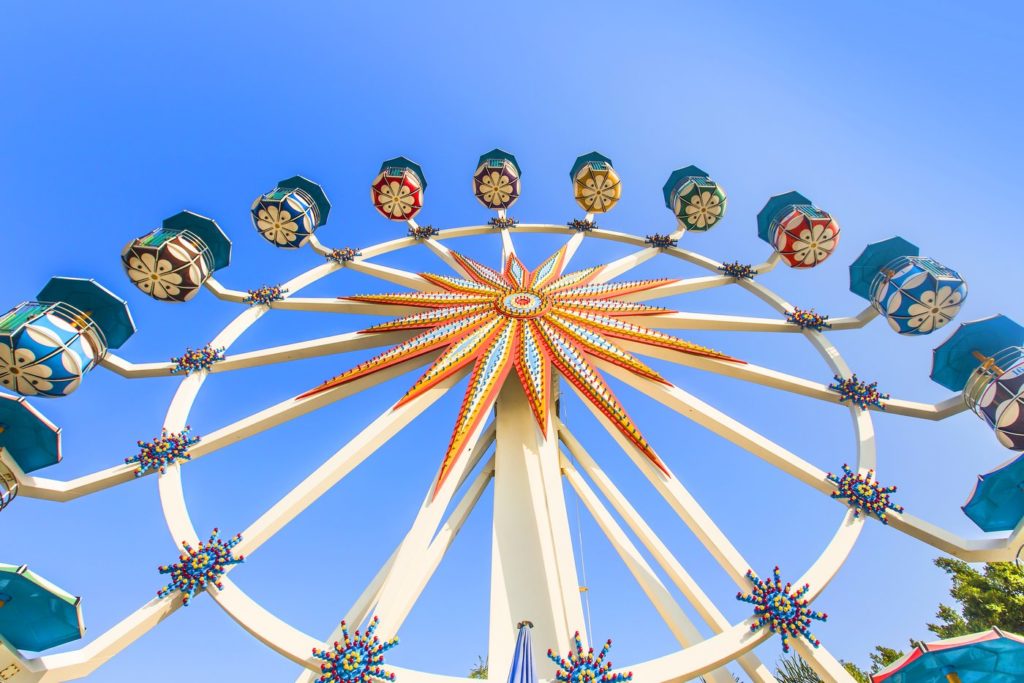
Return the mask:
[[416,398],[385,411],[243,531],[238,552],[243,555],[255,552],[362,461],[387,443],[414,418],[443,396],[460,379],[462,379],[460,374],[452,375]]

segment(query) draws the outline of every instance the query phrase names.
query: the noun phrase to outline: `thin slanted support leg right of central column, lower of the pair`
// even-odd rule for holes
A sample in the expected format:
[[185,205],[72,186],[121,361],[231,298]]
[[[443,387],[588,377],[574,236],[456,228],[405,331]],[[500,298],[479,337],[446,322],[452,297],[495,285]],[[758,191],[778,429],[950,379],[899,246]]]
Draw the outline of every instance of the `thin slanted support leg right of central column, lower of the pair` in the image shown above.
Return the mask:
[[[636,580],[640,589],[654,606],[654,609],[660,614],[662,620],[669,627],[676,640],[679,641],[679,644],[687,647],[703,640],[700,632],[697,631],[693,623],[686,616],[682,607],[672,597],[669,589],[666,588],[662,580],[654,573],[654,569],[643,558],[643,555],[640,554],[637,547],[630,541],[626,531],[614,520],[607,508],[604,507],[600,499],[594,494],[593,489],[587,485],[587,482],[580,476],[580,473],[572,467],[568,459],[562,457],[560,462],[562,472],[568,479],[572,489],[575,490],[580,500],[583,501],[588,512],[590,512],[594,521],[597,522],[598,527],[604,532],[605,538],[611,544],[612,548],[615,549],[615,552],[618,553],[620,558],[622,558],[630,573],[633,574],[633,579]],[[732,675],[721,669],[709,674],[708,678],[716,681],[716,683],[732,682]]]

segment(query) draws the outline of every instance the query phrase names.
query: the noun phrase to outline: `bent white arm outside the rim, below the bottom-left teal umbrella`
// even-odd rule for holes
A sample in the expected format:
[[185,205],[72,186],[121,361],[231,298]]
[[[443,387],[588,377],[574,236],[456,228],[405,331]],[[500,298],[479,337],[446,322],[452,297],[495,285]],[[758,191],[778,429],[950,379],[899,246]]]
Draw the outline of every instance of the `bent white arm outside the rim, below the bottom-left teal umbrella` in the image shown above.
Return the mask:
[[154,598],[89,644],[68,652],[28,659],[24,661],[25,669],[34,674],[45,673],[46,680],[70,681],[85,678],[177,611],[181,605],[180,594],[167,599]]

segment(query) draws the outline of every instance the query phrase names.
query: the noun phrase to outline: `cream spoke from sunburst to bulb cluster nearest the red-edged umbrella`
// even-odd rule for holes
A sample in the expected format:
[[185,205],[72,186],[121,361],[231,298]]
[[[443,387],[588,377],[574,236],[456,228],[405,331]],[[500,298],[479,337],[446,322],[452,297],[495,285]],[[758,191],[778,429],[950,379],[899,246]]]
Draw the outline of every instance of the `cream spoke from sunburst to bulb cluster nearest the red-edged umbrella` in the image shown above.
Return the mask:
[[[574,387],[573,387],[574,388]],[[579,394],[579,390],[578,390]],[[614,424],[589,400],[586,396],[580,395],[583,403],[597,418],[605,431],[611,435],[620,447],[626,452],[633,464],[647,477],[647,480],[654,486],[662,498],[679,515],[680,519],[690,528],[697,540],[708,549],[715,560],[725,569],[726,573],[740,588],[748,585],[746,570],[751,564],[743,559],[743,556],[736,550],[729,539],[722,532],[718,525],[705,512],[700,504],[696,502],[692,495],[683,486],[678,477],[672,474],[668,465],[663,468],[654,466],[631,440],[614,426]]]

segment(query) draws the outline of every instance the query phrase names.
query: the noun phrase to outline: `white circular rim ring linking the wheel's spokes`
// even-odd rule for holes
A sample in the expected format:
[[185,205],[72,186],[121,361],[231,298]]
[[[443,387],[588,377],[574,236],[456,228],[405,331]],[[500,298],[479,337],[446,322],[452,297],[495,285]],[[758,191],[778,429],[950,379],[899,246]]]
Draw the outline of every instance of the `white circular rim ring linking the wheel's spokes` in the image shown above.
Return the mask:
[[[488,234],[494,231],[494,227],[489,225],[464,226],[441,230],[436,236],[436,239],[441,241],[445,239]],[[543,223],[520,224],[516,226],[514,231],[574,234],[574,231],[568,227]],[[586,238],[610,240],[641,248],[646,246],[642,237],[604,228],[587,232],[585,233]],[[401,238],[390,242],[378,243],[372,247],[362,249],[361,252],[366,258],[371,258],[399,249],[406,249],[418,242],[419,240],[414,238]],[[717,262],[693,252],[679,249],[678,247],[666,248],[662,252],[717,272],[719,265]],[[289,293],[294,295],[301,289],[342,267],[342,265],[333,263],[315,266],[285,283],[283,287],[287,288]],[[751,291],[776,311],[784,312],[787,309],[788,304],[784,299],[760,283],[737,281],[736,284]],[[222,346],[225,349],[229,348],[269,308],[266,306],[254,306],[243,311],[217,334],[213,341],[211,341],[211,344]],[[818,350],[818,353],[825,360],[829,369],[836,373],[849,374],[849,369],[839,350],[823,334],[813,330],[804,330],[803,334],[811,342],[811,345]],[[164,421],[164,428],[168,431],[179,431],[184,427],[193,403],[199,395],[199,390],[202,388],[205,380],[206,373],[197,373],[182,379],[174,397],[171,399]],[[850,407],[849,410],[853,419],[854,436],[857,443],[857,466],[859,469],[873,469],[876,464],[876,447],[870,412],[859,411],[855,407]],[[175,464],[171,468],[168,468],[167,474],[159,475],[158,487],[164,519],[167,522],[175,545],[182,540],[198,543],[199,535],[188,515],[188,507],[184,500],[180,465]],[[821,552],[818,559],[815,560],[799,581],[794,582],[811,585],[811,591],[808,593],[810,599],[813,600],[817,597],[846,562],[850,551],[853,549],[863,528],[863,517],[855,517],[852,510],[848,511],[843,521],[840,522],[839,528],[833,536],[831,541]],[[289,659],[310,671],[319,670],[319,665],[312,658],[311,651],[313,647],[322,646],[323,641],[295,629],[271,614],[249,597],[245,591],[236,586],[227,577],[223,579],[223,586],[222,590],[211,589],[210,594],[242,628]],[[756,633],[751,632],[750,626],[752,623],[753,620],[745,620],[693,646],[635,665],[631,669],[636,674],[637,680],[650,681],[651,683],[670,683],[672,681],[687,680],[693,676],[708,673],[734,660],[771,636],[771,633],[766,630]],[[456,681],[468,680],[462,677],[430,674],[390,665],[389,669],[401,676],[402,680],[415,683],[454,683]]]

